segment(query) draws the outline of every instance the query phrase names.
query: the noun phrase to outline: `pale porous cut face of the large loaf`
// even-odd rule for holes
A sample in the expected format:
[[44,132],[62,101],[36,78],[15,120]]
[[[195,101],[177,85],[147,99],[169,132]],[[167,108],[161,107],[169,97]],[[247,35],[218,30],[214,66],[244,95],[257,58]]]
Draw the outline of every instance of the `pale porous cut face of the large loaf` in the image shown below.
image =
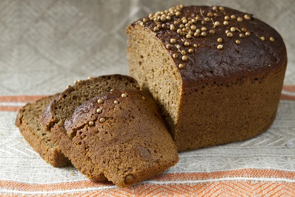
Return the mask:
[[182,79],[165,46],[152,32],[141,26],[129,26],[127,57],[130,75],[143,90],[150,92],[175,138],[177,111],[182,94]]

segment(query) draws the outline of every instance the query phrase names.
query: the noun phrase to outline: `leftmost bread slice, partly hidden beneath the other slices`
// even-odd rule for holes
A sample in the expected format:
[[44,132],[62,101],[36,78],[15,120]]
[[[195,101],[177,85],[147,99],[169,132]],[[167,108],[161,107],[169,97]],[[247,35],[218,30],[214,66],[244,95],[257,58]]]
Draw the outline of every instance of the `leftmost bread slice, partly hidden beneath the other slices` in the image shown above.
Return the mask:
[[26,104],[19,110],[15,125],[43,160],[52,166],[61,167],[70,165],[71,162],[60,152],[51,140],[50,133],[44,131],[40,123],[43,109],[57,97],[58,94]]

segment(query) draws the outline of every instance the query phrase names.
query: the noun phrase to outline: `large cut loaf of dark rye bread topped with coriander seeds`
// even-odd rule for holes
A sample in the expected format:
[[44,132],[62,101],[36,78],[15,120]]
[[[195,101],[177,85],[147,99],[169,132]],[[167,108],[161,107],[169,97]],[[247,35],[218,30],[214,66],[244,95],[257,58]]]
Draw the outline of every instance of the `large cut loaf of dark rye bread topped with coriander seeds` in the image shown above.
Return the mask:
[[127,33],[130,75],[153,95],[178,151],[244,140],[272,124],[287,52],[252,14],[177,5]]

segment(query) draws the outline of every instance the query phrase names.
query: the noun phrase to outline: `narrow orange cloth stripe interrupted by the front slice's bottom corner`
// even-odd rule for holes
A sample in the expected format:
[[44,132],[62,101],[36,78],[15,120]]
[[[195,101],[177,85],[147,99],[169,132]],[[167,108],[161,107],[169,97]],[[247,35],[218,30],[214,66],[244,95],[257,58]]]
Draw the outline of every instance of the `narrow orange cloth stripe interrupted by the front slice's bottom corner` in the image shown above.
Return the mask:
[[[274,170],[274,169],[236,169],[228,171],[216,172],[192,172],[192,173],[163,173],[148,179],[152,183],[166,183],[173,184],[179,182],[198,182],[198,180],[209,181],[212,179],[222,179],[243,177],[245,178],[271,178],[271,179],[289,179],[295,180],[295,172]],[[53,184],[34,184],[34,183],[20,183],[16,181],[0,181],[0,188],[7,190],[21,190],[21,191],[56,191],[56,190],[77,190],[85,188],[100,188],[113,186],[111,183],[100,183],[91,180],[76,181],[76,182],[61,182]]]

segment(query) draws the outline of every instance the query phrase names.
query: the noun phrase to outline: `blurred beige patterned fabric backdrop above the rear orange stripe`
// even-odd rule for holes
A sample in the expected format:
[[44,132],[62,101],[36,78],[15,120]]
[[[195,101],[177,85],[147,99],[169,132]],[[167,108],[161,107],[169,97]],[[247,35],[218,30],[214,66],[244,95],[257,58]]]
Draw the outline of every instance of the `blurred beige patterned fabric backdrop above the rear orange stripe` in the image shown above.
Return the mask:
[[[294,0],[183,0],[253,13],[282,34],[295,84]],[[128,74],[125,27],[177,0],[1,0],[0,95],[62,91],[89,75]]]

